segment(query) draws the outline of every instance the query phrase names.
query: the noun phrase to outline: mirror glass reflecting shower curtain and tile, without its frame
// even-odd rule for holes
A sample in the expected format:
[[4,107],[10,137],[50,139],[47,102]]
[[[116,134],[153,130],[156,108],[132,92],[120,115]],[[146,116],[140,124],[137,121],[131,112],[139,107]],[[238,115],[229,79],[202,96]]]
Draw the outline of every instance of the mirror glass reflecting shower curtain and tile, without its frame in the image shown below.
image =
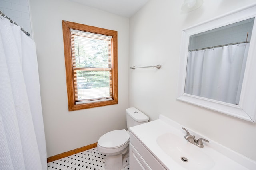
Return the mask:
[[239,104],[254,18],[191,35],[184,93]]

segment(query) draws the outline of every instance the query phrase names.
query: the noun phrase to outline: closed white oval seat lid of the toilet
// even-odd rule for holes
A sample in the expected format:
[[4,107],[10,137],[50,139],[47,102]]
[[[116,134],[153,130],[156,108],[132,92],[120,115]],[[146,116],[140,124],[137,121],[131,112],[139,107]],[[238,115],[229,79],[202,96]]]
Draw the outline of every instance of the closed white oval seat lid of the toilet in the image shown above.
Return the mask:
[[129,132],[122,130],[113,130],[100,137],[98,145],[106,149],[120,148],[129,142]]

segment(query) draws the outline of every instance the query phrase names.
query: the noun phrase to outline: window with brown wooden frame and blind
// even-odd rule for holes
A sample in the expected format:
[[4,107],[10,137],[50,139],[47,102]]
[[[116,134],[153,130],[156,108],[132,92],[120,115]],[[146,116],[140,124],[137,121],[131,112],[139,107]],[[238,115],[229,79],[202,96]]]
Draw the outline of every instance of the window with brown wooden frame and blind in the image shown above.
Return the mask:
[[69,111],[118,103],[117,32],[62,20]]

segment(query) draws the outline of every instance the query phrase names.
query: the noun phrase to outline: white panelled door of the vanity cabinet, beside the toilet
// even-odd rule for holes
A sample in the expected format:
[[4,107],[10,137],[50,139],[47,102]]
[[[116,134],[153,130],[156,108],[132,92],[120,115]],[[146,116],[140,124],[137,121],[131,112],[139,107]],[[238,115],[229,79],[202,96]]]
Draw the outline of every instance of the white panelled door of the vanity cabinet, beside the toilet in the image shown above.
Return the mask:
[[143,160],[137,150],[130,143],[130,152],[129,152],[129,169],[130,170],[151,170],[148,164]]

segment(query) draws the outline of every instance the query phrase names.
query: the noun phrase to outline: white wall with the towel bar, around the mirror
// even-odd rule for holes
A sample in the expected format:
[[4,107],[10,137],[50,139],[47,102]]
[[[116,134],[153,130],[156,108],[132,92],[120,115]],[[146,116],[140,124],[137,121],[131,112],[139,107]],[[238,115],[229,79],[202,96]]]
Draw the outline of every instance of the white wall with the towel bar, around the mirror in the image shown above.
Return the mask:
[[150,121],[163,114],[208,138],[256,160],[256,123],[250,123],[176,100],[181,30],[255,0],[204,0],[198,10],[182,13],[182,0],[150,0],[130,18],[129,67],[161,64],[162,68],[129,69],[129,105]]

